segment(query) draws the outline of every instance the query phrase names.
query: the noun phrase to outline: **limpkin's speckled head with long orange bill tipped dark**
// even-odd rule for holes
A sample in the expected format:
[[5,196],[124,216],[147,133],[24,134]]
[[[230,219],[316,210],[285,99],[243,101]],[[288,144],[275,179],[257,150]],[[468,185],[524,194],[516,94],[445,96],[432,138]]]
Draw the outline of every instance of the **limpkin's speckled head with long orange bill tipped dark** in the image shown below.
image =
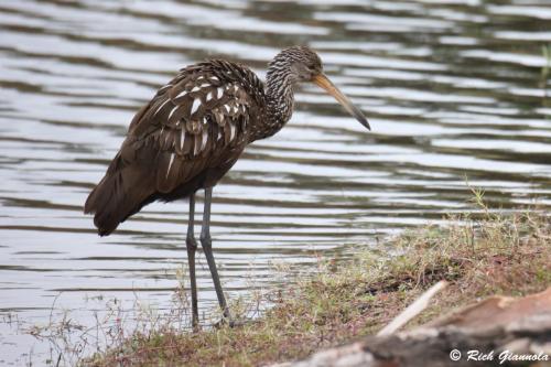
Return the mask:
[[289,77],[292,84],[310,82],[314,83],[335,99],[363,126],[371,130],[369,122],[364,114],[353,105],[346,97],[323,73],[323,64],[320,56],[307,46],[292,46],[281,51],[270,64],[274,69],[279,67],[288,67],[290,71]]

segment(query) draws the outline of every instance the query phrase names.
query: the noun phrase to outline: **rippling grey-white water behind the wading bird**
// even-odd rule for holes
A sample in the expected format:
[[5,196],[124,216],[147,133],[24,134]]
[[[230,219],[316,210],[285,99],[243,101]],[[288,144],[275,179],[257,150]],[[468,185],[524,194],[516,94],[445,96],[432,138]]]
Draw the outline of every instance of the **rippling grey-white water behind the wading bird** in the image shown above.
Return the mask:
[[83,323],[98,295],[168,305],[186,203],[150,205],[107,238],[82,207],[138,108],[206,57],[263,76],[281,47],[310,44],[374,129],[306,86],[291,122],[248,148],[213,206],[230,298],[277,283],[272,262],[295,272],[468,209],[465,177],[490,205],[548,207],[550,19],[545,0],[2,1],[1,363],[46,364],[47,343],[24,330],[47,323],[55,298],[54,314]]

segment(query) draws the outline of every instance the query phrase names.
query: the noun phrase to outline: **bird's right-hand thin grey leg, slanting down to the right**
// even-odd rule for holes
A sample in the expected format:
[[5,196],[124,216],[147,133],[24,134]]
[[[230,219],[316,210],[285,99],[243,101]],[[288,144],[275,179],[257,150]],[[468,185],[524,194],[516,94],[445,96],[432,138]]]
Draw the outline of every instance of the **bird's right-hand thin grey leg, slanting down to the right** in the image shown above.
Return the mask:
[[[218,296],[218,303],[224,312],[224,319],[230,321],[228,305],[226,299],[224,298],[224,291],[222,290],[220,278],[218,277],[218,270],[216,269],[216,263],[213,256],[213,244],[210,240],[210,202],[213,199],[213,187],[205,188],[205,206],[203,209],[203,227],[201,228],[201,246],[205,251],[205,257],[208,262],[208,269],[210,269],[210,274],[213,276],[214,288],[216,290],[216,295]],[[230,321],[231,323],[231,321]]]

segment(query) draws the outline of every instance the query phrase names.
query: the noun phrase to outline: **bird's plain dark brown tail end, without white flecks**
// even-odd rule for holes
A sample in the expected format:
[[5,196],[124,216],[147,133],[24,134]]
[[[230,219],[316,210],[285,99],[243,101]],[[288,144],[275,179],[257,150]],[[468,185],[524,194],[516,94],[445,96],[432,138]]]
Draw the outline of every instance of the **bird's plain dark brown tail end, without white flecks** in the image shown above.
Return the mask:
[[114,159],[84,205],[85,214],[95,214],[94,224],[100,236],[110,235],[148,203],[151,196],[148,176],[143,170],[126,166],[119,155]]

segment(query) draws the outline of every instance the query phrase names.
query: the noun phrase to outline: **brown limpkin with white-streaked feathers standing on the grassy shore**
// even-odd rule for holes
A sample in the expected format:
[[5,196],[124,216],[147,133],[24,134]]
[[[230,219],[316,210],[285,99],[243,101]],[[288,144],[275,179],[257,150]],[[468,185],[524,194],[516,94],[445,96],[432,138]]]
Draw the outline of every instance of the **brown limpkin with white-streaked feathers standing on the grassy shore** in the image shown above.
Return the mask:
[[301,82],[325,89],[369,129],[361,111],[323,74],[320,56],[306,46],[281,51],[269,64],[266,85],[245,65],[206,61],[181,69],[138,111],[119,152],[86,201],[84,212],[95,214],[98,234],[107,236],[149,203],[190,199],[186,248],[194,327],[198,323],[195,193],[205,190],[199,239],[224,317],[230,320],[210,240],[213,186],[245,147],[273,136],[289,121]]

